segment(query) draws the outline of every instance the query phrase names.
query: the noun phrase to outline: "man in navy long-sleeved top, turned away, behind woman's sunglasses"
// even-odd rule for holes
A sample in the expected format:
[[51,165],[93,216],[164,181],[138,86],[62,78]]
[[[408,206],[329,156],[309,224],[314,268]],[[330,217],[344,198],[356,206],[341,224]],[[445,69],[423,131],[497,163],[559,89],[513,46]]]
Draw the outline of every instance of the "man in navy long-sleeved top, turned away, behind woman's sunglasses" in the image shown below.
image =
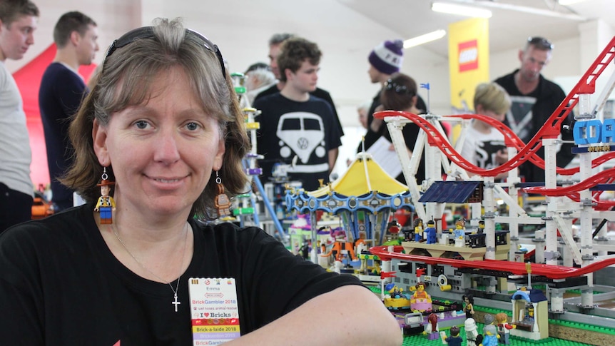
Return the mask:
[[68,125],[88,91],[78,69],[92,63],[98,51],[96,39],[98,31],[93,19],[78,11],[63,14],[54,28],[54,42],[58,48],[56,57],[45,70],[39,88],[47,165],[56,211],[73,206],[73,191],[59,183],[58,178],[72,163]]

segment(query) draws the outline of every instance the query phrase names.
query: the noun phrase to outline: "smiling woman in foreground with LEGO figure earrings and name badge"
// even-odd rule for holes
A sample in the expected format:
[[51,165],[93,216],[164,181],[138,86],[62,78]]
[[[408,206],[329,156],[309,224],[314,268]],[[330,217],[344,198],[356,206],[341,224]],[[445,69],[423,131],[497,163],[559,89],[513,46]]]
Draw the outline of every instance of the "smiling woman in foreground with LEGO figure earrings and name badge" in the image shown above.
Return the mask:
[[[293,256],[258,228],[200,222],[225,208],[220,191],[243,192],[250,144],[220,50],[180,21],[112,44],[70,136],[76,160],[62,181],[88,203],[0,238],[6,344],[402,342],[354,277]],[[113,195],[111,223],[94,211],[101,193]],[[359,311],[338,309],[357,302]],[[304,328],[315,320],[316,336]]]

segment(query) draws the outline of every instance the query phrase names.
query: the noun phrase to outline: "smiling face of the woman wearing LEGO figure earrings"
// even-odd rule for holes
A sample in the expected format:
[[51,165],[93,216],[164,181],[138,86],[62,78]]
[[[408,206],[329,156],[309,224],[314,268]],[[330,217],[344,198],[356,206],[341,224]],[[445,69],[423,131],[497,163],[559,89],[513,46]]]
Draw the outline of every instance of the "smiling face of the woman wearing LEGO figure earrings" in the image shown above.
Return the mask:
[[101,165],[113,166],[118,210],[146,218],[188,214],[222,165],[218,121],[200,107],[181,68],[159,73],[150,93],[112,113],[107,126],[94,122],[94,150]]

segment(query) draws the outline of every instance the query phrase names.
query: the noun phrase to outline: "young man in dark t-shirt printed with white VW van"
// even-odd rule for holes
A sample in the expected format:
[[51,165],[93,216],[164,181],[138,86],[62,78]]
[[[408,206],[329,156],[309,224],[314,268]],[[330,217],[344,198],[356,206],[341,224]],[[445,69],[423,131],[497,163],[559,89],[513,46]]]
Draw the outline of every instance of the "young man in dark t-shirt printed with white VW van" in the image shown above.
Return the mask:
[[279,93],[257,98],[254,108],[261,111],[258,153],[265,156],[260,164],[263,179],[272,175],[275,163],[296,163],[288,169],[291,180],[300,180],[305,190],[329,181],[338,148],[342,144],[331,106],[310,95],[316,88],[318,64],[322,53],[318,46],[298,37],[280,47],[278,68],[284,87]]

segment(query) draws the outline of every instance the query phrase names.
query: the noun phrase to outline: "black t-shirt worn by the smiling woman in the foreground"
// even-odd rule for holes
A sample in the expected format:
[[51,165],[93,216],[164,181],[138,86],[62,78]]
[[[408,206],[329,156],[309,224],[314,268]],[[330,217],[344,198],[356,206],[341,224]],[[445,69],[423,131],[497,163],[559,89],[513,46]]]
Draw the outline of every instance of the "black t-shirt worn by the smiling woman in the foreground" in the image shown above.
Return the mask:
[[169,285],[113,256],[92,210],[71,208],[0,235],[2,345],[193,345],[188,278],[235,278],[242,334],[324,292],[360,285],[292,255],[258,228],[190,220],[194,254],[175,312]]

